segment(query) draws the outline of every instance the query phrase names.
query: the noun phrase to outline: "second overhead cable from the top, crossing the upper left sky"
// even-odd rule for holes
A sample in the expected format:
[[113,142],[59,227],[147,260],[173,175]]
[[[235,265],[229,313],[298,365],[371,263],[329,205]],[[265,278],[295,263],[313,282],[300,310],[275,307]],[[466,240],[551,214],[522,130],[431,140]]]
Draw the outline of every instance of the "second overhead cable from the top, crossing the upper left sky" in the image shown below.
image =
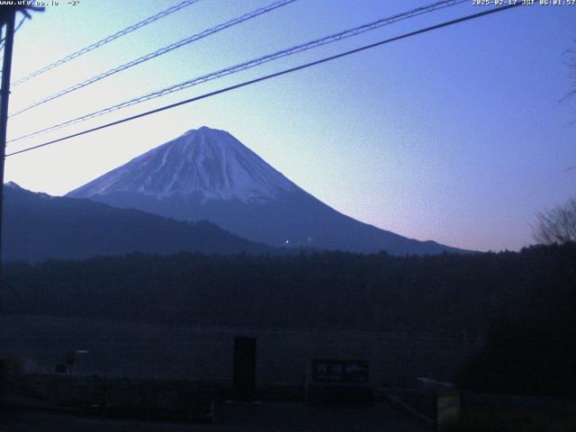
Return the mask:
[[238,16],[238,18],[234,18],[233,20],[230,20],[226,23],[220,23],[217,26],[212,27],[211,29],[201,31],[200,33],[196,33],[193,36],[190,36],[190,37],[185,38],[183,40],[179,40],[175,43],[167,45],[164,48],[160,48],[160,49],[157,49],[155,51],[149,52],[145,56],[131,60],[128,63],[124,63],[123,65],[120,65],[118,67],[113,67],[112,69],[110,69],[106,72],[103,72],[100,75],[93,76],[92,78],[86,79],[85,81],[77,83],[76,85],[71,85],[71,86],[65,88],[64,90],[59,91],[58,93],[51,94],[48,97],[45,97],[44,99],[41,99],[38,102],[31,103],[30,105],[24,107],[20,111],[14,112],[13,114],[10,115],[10,117],[14,117],[15,115],[18,115],[18,114],[21,114],[22,112],[26,112],[28,110],[31,110],[32,108],[39,106],[43,103],[47,103],[47,102],[52,101],[52,100],[54,100],[60,96],[74,92],[74,91],[76,91],[82,87],[85,87],[86,85],[94,84],[96,81],[100,81],[101,79],[103,79],[107,76],[114,75],[118,72],[121,72],[122,70],[126,70],[130,67],[134,67],[134,66],[139,65],[140,63],[143,63],[143,62],[150,60],[152,58],[157,58],[158,56],[161,56],[162,54],[166,54],[166,52],[170,52],[173,49],[184,47],[184,45],[192,43],[196,40],[201,40],[207,36],[210,36],[213,33],[216,33],[218,31],[222,31],[224,29],[232,27],[233,25],[243,23],[243,22],[250,20],[252,18],[256,18],[257,16],[259,16],[261,14],[266,14],[268,12],[274,11],[275,9],[277,9],[279,7],[285,6],[286,4],[291,4],[295,1],[296,0],[280,0],[280,1],[277,1],[275,3],[268,4],[264,7],[258,8],[252,12],[247,13],[247,14],[243,14],[241,16]]

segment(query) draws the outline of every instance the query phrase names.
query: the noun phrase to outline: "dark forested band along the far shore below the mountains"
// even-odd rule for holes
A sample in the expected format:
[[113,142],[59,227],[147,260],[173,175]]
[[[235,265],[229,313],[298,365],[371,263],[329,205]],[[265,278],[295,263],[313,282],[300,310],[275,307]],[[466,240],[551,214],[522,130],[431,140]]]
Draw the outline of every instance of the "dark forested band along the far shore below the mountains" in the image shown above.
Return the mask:
[[[5,266],[3,311],[181,325],[478,334],[571,320],[576,246],[469,256],[193,254]],[[572,310],[573,311],[573,310]]]

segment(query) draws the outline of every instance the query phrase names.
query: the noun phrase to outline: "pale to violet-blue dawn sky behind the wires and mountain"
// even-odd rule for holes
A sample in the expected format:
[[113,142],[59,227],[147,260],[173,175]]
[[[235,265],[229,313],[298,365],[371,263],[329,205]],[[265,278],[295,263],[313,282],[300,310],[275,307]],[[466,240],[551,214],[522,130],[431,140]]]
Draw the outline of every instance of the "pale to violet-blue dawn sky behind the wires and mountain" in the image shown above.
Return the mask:
[[[11,111],[274,0],[200,0],[12,89]],[[13,82],[176,0],[60,0],[15,35]],[[298,0],[14,116],[9,139],[434,0]],[[8,153],[493,6],[470,3],[8,144]],[[19,18],[18,18],[19,20]],[[566,49],[576,5],[521,6],[7,157],[5,181],[67,193],[202,125],[294,183],[403,236],[475,250],[533,243],[535,212],[576,195]]]

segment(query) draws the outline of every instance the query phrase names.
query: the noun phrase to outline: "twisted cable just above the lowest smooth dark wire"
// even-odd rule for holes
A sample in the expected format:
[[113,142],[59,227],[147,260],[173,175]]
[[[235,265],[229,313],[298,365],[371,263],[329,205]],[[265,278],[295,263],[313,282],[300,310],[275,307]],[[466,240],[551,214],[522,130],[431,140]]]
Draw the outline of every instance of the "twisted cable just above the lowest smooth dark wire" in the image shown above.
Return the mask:
[[412,18],[414,16],[418,16],[421,14],[428,14],[428,13],[436,11],[438,9],[442,9],[442,8],[449,7],[449,6],[454,6],[455,4],[462,4],[462,3],[467,2],[467,1],[468,0],[444,0],[441,2],[437,2],[435,4],[429,4],[428,6],[422,6],[422,7],[419,7],[417,9],[413,9],[409,12],[392,15],[392,16],[387,17],[387,18],[382,18],[380,20],[374,21],[373,23],[367,23],[364,25],[360,25],[360,26],[355,27],[353,29],[348,29],[346,31],[339,31],[338,33],[334,33],[334,34],[331,34],[329,36],[325,36],[325,37],[317,39],[317,40],[311,40],[310,42],[302,43],[300,45],[295,45],[289,49],[282,49],[282,50],[276,51],[272,54],[268,54],[264,57],[255,58],[255,59],[249,60],[249,61],[244,62],[244,63],[240,63],[240,64],[232,66],[232,67],[226,67],[226,68],[220,69],[216,72],[211,72],[210,74],[207,74],[204,76],[198,76],[198,77],[195,77],[193,79],[189,79],[187,81],[184,81],[183,83],[171,85],[171,86],[163,88],[161,90],[157,90],[157,91],[152,92],[152,93],[141,95],[141,96],[136,97],[134,99],[130,99],[129,101],[126,101],[126,102],[117,103],[115,105],[109,106],[107,108],[103,108],[102,110],[99,110],[96,112],[90,112],[90,113],[82,115],[80,117],[76,117],[75,119],[63,121],[61,123],[49,126],[47,128],[41,129],[41,130],[36,130],[34,132],[23,135],[21,137],[11,139],[8,142],[15,142],[15,141],[18,141],[21,139],[30,138],[30,137],[38,135],[40,133],[48,132],[49,130],[58,130],[58,129],[70,126],[72,124],[82,122],[82,121],[92,120],[95,117],[100,117],[101,115],[107,114],[109,112],[114,112],[117,110],[121,110],[123,108],[127,108],[127,107],[134,105],[134,104],[137,104],[137,103],[143,103],[143,102],[149,101],[151,99],[156,99],[157,97],[164,96],[166,94],[175,93],[175,92],[184,90],[186,88],[192,87],[193,85],[200,85],[200,84],[203,84],[207,81],[211,81],[212,79],[217,79],[217,78],[220,78],[222,76],[229,76],[231,74],[238,73],[240,71],[246,70],[246,69],[251,68],[251,67],[260,66],[264,63],[267,63],[269,61],[272,61],[272,60],[275,60],[278,58],[288,57],[288,56],[291,56],[291,55],[296,54],[298,52],[302,52],[302,51],[307,50],[307,49],[317,48],[317,47],[320,47],[322,45],[336,42],[338,40],[343,40],[343,39],[347,39],[347,38],[352,37],[352,36],[356,36],[358,34],[364,33],[365,31],[373,31],[379,27],[383,27],[384,25],[397,23],[401,20]]

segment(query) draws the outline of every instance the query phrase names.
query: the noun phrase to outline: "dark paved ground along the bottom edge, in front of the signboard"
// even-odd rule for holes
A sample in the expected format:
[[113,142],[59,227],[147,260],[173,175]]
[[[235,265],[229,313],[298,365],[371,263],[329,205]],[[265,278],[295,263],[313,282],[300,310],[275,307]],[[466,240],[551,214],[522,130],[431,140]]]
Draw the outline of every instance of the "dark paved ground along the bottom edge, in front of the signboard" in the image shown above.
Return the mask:
[[216,406],[208,425],[141,422],[121,419],[75,417],[55,413],[0,411],[0,432],[181,432],[181,431],[278,431],[278,432],[419,432],[428,430],[418,420],[386,403],[370,408],[311,408],[302,403]]

